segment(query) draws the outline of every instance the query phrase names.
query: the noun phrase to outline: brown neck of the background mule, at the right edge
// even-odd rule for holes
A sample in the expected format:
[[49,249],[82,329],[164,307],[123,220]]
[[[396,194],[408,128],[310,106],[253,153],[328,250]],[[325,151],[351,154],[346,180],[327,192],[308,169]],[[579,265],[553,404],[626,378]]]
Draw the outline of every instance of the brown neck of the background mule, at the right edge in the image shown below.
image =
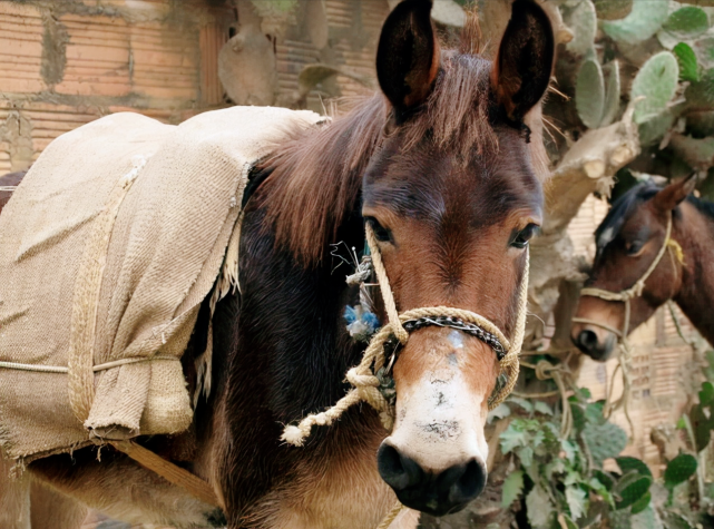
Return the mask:
[[714,218],[693,203],[679,206],[673,237],[684,251],[682,286],[674,301],[696,330],[714,344]]

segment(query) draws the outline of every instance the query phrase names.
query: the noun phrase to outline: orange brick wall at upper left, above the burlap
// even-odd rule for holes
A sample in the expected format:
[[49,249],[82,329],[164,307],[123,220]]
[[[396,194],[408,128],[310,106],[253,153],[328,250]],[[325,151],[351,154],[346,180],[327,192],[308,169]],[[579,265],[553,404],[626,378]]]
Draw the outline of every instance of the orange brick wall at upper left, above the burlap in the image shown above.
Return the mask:
[[0,0],[0,175],[107,114],[179,123],[223,106],[232,23],[209,0]]

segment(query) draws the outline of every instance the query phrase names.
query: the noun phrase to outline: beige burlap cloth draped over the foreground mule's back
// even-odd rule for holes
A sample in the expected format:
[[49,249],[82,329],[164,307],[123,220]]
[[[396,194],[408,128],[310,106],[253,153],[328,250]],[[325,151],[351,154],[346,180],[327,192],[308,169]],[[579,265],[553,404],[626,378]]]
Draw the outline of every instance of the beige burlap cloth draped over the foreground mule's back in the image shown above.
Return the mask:
[[50,144],[0,215],[0,444],[11,458],[189,425],[179,359],[202,301],[237,277],[247,172],[321,119],[234,107],[176,127],[116,114]]

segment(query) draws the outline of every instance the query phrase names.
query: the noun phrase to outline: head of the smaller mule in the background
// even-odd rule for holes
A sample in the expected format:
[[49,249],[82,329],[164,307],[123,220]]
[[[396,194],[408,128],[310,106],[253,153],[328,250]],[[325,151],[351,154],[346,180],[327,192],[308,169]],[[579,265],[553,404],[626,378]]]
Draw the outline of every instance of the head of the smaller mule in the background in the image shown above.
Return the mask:
[[[619,197],[595,232],[597,253],[586,286],[618,293],[635,285],[657,258],[669,215],[675,223],[677,206],[694,184],[694,178],[686,178],[661,189],[645,183]],[[681,285],[682,263],[675,251],[667,252],[645,282],[642,295],[629,302],[628,332],[647,321]],[[593,360],[606,361],[617,344],[610,330],[622,332],[625,325],[625,303],[584,295],[575,316],[598,324],[575,323],[573,342]]]

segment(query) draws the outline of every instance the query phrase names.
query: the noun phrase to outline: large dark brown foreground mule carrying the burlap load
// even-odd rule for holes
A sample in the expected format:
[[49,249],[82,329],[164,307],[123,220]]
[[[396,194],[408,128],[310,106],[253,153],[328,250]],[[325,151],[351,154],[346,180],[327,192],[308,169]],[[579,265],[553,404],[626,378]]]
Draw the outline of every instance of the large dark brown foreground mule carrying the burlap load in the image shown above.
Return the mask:
[[[207,480],[223,512],[111,449],[100,461],[94,449],[35,461],[31,474],[113,518],[175,527],[372,529],[397,498],[434,515],[476,498],[499,363],[486,342],[454,329],[413,331],[399,352],[389,438],[366,406],[315,427],[302,448],[280,438],[284,424],[343,396],[360,362],[364,344],[343,319],[359,290],[331,257],[340,242],[364,246],[365,222],[400,312],[466,308],[512,336],[528,239],[542,216],[539,101],[554,61],[541,8],[516,0],[512,9],[490,62],[472,55],[472,27],[460,50],[440,50],[431,2],[400,3],[380,38],[382,94],[296,134],[256,167],[242,290],[213,320],[212,392],[189,433],[139,440]],[[184,355],[192,388],[207,311]],[[407,512],[392,527],[415,519]]]

